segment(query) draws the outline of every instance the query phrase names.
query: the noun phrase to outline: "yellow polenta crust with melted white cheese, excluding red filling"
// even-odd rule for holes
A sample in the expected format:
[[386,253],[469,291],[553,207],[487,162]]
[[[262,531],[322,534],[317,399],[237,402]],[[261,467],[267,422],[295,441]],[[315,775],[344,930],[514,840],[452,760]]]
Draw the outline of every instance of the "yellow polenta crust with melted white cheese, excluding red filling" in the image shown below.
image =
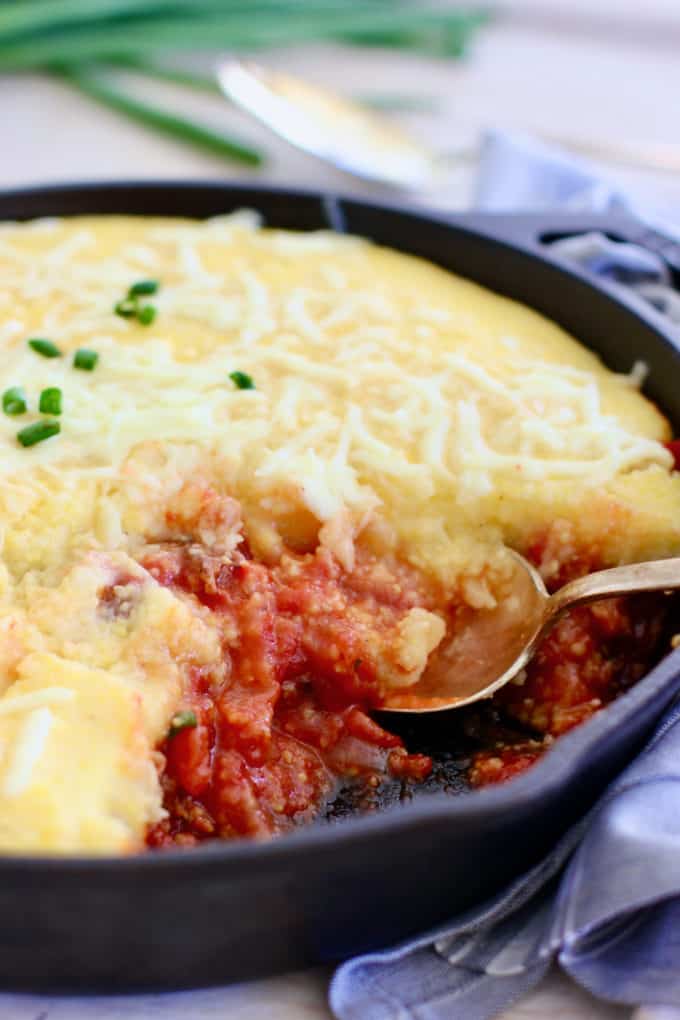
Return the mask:
[[[153,325],[114,315],[149,277]],[[135,556],[196,516],[192,484],[240,501],[264,559],[322,541],[351,569],[355,541],[396,548],[479,609],[506,546],[556,518],[605,562],[680,549],[643,366],[616,375],[422,260],[250,213],[95,217],[0,227],[0,391],[30,408],[0,415],[0,849],[129,850],[160,817],[153,748],[220,640]],[[24,449],[47,387],[61,434]],[[233,528],[201,526],[225,555]],[[403,656],[421,669],[441,635],[415,622]]]

